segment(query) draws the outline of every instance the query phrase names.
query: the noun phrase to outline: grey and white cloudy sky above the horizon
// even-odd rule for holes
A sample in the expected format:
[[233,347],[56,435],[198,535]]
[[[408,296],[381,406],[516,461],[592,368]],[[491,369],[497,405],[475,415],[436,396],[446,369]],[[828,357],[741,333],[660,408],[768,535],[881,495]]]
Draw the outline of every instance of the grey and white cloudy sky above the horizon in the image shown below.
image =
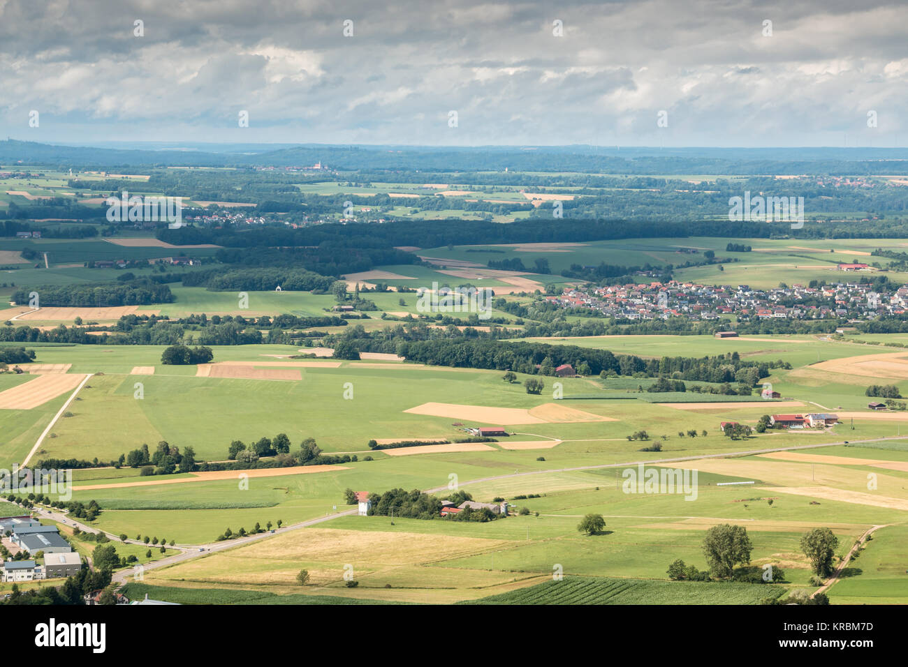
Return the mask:
[[905,44],[904,0],[0,0],[0,134],[904,147]]

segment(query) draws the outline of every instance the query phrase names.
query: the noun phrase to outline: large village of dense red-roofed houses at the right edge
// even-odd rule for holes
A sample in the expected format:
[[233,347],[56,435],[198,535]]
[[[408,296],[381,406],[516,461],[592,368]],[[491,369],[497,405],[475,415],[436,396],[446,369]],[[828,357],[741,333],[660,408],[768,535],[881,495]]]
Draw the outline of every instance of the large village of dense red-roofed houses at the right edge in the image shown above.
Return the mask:
[[[842,271],[872,270],[866,264],[839,264]],[[749,285],[711,286],[669,280],[644,284],[565,289],[546,297],[568,309],[593,309],[617,319],[715,320],[732,315],[762,319],[873,319],[908,312],[908,288],[876,292],[869,283],[836,282],[818,287],[793,285],[752,289]],[[802,303],[798,303],[798,302]]]

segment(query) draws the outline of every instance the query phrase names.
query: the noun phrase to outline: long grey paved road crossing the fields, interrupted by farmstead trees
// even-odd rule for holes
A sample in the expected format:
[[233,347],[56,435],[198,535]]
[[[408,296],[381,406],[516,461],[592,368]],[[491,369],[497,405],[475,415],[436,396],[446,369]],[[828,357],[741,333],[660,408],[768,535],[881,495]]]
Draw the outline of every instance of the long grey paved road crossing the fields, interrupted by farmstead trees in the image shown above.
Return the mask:
[[[867,440],[851,440],[850,442],[856,444],[859,442],[881,442],[883,440],[903,440],[903,439],[905,439],[904,436],[874,437],[874,438],[867,439]],[[844,440],[838,440],[835,442],[817,443],[814,445],[770,447],[768,449],[748,449],[748,450],[738,451],[738,452],[722,452],[720,454],[706,454],[706,455],[698,455],[698,456],[674,456],[674,457],[670,457],[670,458],[658,458],[658,459],[651,459],[651,460],[646,460],[646,461],[631,461],[631,462],[627,462],[627,463],[607,463],[607,464],[600,464],[597,466],[577,466],[577,467],[569,467],[569,468],[551,468],[548,470],[533,470],[533,471],[526,472],[526,473],[514,472],[514,473],[509,473],[508,475],[495,475],[495,476],[489,476],[489,477],[480,477],[479,479],[471,479],[467,482],[459,482],[458,486],[469,486],[471,484],[479,484],[481,482],[489,482],[489,481],[496,480],[496,479],[507,479],[508,477],[547,475],[548,473],[565,473],[565,472],[573,472],[573,471],[577,471],[577,470],[597,470],[597,469],[601,469],[601,468],[629,467],[629,466],[637,466],[639,464],[653,466],[653,465],[662,464],[662,463],[677,463],[677,462],[681,462],[681,461],[694,461],[694,460],[701,459],[701,458],[725,458],[727,456],[753,456],[756,454],[769,454],[771,452],[785,452],[785,451],[792,451],[792,450],[797,450],[797,449],[815,449],[817,447],[844,445],[845,442],[846,441],[844,441]],[[436,486],[435,488],[426,489],[426,493],[430,493],[430,494],[438,493],[439,491],[445,491],[447,489],[448,489],[448,486]],[[144,570],[146,570],[146,571],[147,570],[156,570],[160,567],[167,567],[169,565],[182,563],[183,561],[191,560],[192,558],[198,558],[200,556],[224,551],[226,549],[232,549],[233,547],[240,546],[242,544],[249,544],[249,543],[255,542],[257,540],[262,540],[267,537],[271,537],[271,535],[289,533],[290,531],[298,530],[300,528],[305,528],[310,525],[318,525],[318,524],[324,523],[326,521],[331,521],[332,519],[336,519],[339,516],[350,516],[350,515],[355,515],[356,513],[357,513],[357,508],[353,508],[350,510],[346,510],[344,512],[336,512],[331,515],[320,516],[316,519],[309,519],[308,521],[301,521],[298,524],[285,525],[285,526],[275,530],[273,534],[266,532],[266,533],[260,533],[258,535],[248,535],[246,537],[241,537],[241,538],[232,539],[232,540],[224,540],[222,542],[214,542],[212,544],[201,544],[198,546],[180,545],[178,548],[183,550],[182,554],[176,554],[176,555],[170,556],[168,558],[162,558],[159,561],[154,561],[153,563],[145,564]],[[92,530],[92,529],[89,529],[89,530]],[[119,538],[114,537],[114,539],[119,539]],[[135,543],[134,540],[128,540],[128,542]],[[199,551],[199,549],[204,549],[204,551]],[[132,577],[133,577],[133,571],[124,570],[124,571],[114,574],[114,583],[125,584],[126,581]]]

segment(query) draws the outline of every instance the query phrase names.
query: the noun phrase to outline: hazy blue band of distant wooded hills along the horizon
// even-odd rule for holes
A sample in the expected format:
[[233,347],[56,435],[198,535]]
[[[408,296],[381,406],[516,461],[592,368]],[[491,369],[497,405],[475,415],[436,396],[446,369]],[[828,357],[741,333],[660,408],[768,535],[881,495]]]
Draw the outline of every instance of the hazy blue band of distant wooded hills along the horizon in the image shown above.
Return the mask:
[[[126,146],[129,147],[126,147]],[[114,147],[117,146],[117,147]],[[138,146],[138,147],[136,147]],[[906,174],[904,148],[617,148],[601,146],[366,146],[327,144],[112,144],[0,141],[0,165],[153,168],[308,166],[431,172],[612,174]]]

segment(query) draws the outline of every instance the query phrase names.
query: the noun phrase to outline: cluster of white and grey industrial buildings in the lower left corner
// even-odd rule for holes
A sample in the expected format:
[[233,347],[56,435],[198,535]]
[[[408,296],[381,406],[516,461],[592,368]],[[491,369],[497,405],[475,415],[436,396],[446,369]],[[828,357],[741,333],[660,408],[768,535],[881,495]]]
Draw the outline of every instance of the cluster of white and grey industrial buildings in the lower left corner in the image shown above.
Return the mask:
[[35,559],[5,561],[5,582],[72,576],[82,569],[82,557],[60,536],[55,525],[42,525],[31,516],[10,516],[0,519],[0,533],[9,550],[44,554],[44,564],[38,564]]

